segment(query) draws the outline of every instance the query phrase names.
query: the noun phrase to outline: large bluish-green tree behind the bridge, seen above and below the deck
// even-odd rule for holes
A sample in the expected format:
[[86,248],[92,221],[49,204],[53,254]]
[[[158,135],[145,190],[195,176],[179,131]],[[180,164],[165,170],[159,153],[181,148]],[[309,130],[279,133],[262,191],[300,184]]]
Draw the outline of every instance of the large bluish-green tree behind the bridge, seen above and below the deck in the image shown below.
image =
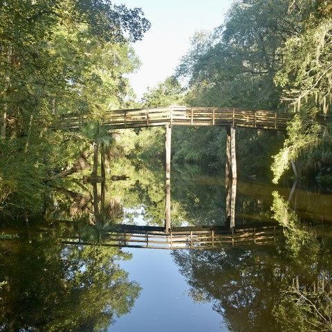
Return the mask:
[[[280,109],[282,89],[274,79],[283,66],[284,43],[297,33],[300,24],[298,13],[293,11],[290,15],[288,6],[288,0],[237,1],[225,24],[213,34],[196,33],[190,50],[176,69],[176,77],[184,77],[188,82],[186,104]],[[174,160],[218,167],[223,164],[223,133],[212,129],[178,132],[177,135],[174,131]],[[268,172],[270,156],[279,149],[280,140],[276,133],[238,129],[241,175]]]

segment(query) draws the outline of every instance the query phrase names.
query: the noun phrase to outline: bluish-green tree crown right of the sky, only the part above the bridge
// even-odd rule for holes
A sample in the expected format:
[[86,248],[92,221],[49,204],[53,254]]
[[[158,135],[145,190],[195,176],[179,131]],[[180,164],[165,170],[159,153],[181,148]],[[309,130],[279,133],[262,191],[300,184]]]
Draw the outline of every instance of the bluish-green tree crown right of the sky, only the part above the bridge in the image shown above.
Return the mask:
[[177,71],[190,77],[190,104],[276,109],[273,77],[280,48],[296,31],[292,20],[286,0],[237,1],[213,36],[196,34]]

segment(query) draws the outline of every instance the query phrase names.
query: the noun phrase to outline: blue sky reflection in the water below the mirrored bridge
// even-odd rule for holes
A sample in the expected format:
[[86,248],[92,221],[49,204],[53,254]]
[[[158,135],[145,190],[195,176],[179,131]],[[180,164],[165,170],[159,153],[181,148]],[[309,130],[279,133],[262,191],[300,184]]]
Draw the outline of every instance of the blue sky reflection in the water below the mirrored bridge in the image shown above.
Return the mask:
[[133,258],[120,265],[129,272],[129,279],[143,289],[131,313],[120,317],[109,331],[228,331],[222,328],[222,317],[212,310],[212,304],[195,304],[189,297],[189,287],[169,250],[130,249],[129,252]]

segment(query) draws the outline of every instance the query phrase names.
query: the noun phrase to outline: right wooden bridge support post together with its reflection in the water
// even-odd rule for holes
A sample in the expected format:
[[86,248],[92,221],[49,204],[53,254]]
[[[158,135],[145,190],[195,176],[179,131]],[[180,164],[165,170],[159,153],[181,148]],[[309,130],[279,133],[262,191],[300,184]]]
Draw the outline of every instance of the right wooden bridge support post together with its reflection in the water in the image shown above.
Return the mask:
[[[232,169],[232,187],[230,187],[230,169]],[[226,165],[225,165],[226,221],[230,228],[235,227],[235,201],[237,196],[237,158],[235,150],[235,128],[227,128]]]

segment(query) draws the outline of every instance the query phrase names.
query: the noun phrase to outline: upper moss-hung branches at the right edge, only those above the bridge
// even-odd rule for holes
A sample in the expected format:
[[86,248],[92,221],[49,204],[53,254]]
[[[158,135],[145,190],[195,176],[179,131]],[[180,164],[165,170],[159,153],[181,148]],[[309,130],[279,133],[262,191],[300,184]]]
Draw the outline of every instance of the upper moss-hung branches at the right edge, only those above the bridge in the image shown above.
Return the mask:
[[[300,34],[284,45],[285,64],[276,76],[284,99],[297,110],[315,101],[323,113],[331,104],[331,4],[329,1],[297,1],[304,18]],[[291,12],[298,10],[295,2]]]

